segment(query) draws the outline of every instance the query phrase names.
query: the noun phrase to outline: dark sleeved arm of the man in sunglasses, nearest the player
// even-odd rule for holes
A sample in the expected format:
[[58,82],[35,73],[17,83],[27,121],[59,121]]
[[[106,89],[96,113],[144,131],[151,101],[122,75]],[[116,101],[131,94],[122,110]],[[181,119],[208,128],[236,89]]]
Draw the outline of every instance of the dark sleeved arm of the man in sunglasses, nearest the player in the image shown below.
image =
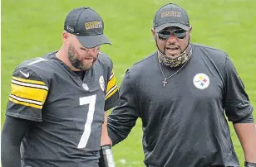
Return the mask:
[[113,146],[126,139],[138,117],[140,110],[135,96],[135,79],[127,70],[120,87],[118,103],[107,118],[108,135]]

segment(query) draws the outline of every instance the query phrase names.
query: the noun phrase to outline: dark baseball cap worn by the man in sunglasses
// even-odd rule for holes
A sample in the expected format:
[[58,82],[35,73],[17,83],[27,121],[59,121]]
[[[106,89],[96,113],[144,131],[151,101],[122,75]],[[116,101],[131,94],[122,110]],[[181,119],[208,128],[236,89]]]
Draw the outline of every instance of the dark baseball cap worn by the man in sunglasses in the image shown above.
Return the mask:
[[190,18],[188,13],[175,3],[166,4],[155,13],[153,28],[159,32],[166,27],[177,26],[185,31],[190,28]]

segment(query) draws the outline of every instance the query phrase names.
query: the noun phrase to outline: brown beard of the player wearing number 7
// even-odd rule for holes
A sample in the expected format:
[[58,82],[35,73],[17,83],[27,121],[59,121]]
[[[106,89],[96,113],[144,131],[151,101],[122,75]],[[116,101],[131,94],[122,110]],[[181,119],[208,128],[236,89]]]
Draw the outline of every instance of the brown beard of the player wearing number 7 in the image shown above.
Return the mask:
[[93,64],[96,61],[96,58],[93,58],[93,62],[91,64],[84,64],[82,60],[78,60],[76,57],[78,53],[76,52],[76,49],[73,45],[68,46],[68,51],[67,51],[68,59],[71,62],[71,65],[75,67],[76,69],[81,69],[81,70],[88,70],[91,69]]

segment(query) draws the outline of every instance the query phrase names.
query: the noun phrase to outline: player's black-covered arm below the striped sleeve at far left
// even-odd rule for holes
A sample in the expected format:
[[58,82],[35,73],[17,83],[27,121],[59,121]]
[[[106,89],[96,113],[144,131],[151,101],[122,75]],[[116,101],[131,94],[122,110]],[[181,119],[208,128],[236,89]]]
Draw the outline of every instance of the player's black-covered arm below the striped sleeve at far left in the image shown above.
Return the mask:
[[31,121],[16,117],[5,118],[1,134],[2,167],[22,166],[20,146],[31,124]]

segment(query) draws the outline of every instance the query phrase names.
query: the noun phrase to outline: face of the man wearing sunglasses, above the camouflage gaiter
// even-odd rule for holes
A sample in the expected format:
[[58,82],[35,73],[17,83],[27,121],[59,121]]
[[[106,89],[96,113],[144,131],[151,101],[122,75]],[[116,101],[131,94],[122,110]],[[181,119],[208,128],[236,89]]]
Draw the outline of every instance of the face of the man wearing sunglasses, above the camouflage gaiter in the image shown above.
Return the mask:
[[160,32],[152,30],[158,49],[167,56],[180,55],[190,42],[189,31],[178,27],[167,27]]

